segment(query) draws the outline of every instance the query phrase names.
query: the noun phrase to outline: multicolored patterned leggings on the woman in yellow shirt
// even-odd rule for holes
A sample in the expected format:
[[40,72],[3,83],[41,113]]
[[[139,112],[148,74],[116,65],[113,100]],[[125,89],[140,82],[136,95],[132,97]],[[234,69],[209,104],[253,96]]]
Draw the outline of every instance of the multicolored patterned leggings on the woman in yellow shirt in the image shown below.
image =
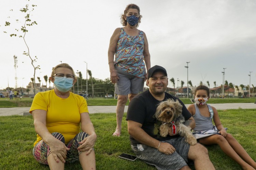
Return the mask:
[[[52,133],[52,135],[62,141],[63,143],[65,143],[65,139],[63,137],[62,134],[58,133],[58,132],[54,132]],[[84,138],[86,138],[87,136],[89,136],[87,133],[85,132],[80,132],[79,134],[77,134],[66,146],[68,148],[70,148],[70,150],[67,151],[67,159],[66,159],[66,163],[73,163],[76,160],[79,160],[79,155],[82,153],[80,151],[77,150],[77,148],[80,146],[80,144],[78,142],[81,142]],[[40,140],[33,149],[33,156],[34,158],[41,164],[45,164],[48,165],[48,160],[47,157],[48,155],[51,154],[51,150],[49,148],[49,146],[43,141]]]

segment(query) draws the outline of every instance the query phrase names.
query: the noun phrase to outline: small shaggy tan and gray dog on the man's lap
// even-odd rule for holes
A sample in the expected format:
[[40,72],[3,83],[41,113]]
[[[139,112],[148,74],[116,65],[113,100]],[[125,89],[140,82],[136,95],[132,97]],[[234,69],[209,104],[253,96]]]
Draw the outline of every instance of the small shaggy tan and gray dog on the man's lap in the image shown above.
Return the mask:
[[179,101],[168,99],[161,102],[156,109],[155,117],[161,121],[160,135],[166,137],[168,135],[169,128],[172,126],[172,133],[176,134],[176,127],[179,130],[180,136],[185,137],[185,141],[189,145],[196,145],[197,140],[190,131],[189,126],[185,126],[185,118],[182,116],[182,105]]

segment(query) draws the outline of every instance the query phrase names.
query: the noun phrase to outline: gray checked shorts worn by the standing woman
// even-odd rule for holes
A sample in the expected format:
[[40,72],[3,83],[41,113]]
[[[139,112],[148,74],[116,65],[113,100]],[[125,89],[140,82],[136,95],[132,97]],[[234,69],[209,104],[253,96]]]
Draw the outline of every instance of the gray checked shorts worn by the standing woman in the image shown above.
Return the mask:
[[115,83],[115,94],[117,95],[129,95],[138,94],[143,91],[144,78],[137,78],[118,67],[115,67],[116,73],[119,77],[117,83]]

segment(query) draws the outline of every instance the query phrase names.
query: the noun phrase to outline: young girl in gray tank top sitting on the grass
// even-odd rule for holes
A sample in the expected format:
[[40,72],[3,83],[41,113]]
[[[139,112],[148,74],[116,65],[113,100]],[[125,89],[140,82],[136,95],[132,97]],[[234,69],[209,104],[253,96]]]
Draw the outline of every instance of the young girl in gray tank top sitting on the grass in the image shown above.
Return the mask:
[[[216,108],[206,104],[210,94],[209,88],[202,85],[198,86],[195,94],[196,103],[189,105],[188,111],[193,115],[196,122],[194,131],[196,131],[195,136],[198,142],[203,145],[218,144],[223,152],[234,159],[243,169],[256,169],[254,160],[222,126]],[[215,126],[212,124],[212,119]],[[211,133],[204,135],[201,131],[210,131]]]

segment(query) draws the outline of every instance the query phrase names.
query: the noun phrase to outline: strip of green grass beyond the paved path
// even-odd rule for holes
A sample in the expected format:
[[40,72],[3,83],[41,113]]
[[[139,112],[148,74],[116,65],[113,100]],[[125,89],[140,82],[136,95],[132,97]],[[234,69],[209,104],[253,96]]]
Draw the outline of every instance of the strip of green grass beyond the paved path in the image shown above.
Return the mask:
[[[30,107],[32,98],[24,98],[22,100],[9,100],[8,98],[0,98],[0,107]],[[89,99],[86,100],[88,106],[115,106],[117,99]],[[191,104],[190,99],[181,98],[184,104]],[[207,103],[254,103],[255,98],[229,98],[229,99],[209,99]],[[129,104],[127,101],[126,105]]]

